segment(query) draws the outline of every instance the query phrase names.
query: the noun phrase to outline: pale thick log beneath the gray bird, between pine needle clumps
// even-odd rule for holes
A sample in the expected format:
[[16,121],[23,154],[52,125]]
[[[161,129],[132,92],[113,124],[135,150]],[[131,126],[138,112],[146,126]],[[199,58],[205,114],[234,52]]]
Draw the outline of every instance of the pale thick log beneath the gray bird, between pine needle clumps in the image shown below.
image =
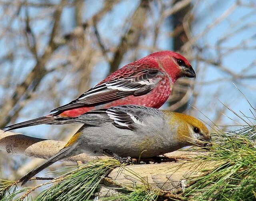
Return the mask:
[[[190,153],[188,151],[174,151],[170,155],[183,155],[184,152],[187,157],[198,155],[198,153]],[[101,184],[98,196],[103,198],[111,195],[121,195],[120,187],[133,189],[136,186],[148,184],[152,189],[160,191],[160,197],[179,200],[180,197],[176,194],[189,187],[192,184],[191,181],[195,181],[192,179],[206,175],[205,169],[210,171],[219,164],[216,161],[206,164],[181,159],[175,163],[130,165],[122,169],[122,171],[116,168],[105,178],[107,183],[103,182]],[[207,173],[209,172],[207,171]]]

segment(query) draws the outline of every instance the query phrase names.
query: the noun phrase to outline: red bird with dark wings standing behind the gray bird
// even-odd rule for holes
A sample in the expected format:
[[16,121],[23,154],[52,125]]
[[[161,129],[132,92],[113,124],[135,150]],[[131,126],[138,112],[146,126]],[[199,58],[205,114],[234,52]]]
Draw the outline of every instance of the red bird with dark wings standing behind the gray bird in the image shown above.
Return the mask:
[[53,109],[51,114],[9,125],[5,129],[75,123],[65,117],[76,117],[94,109],[116,105],[159,108],[170,96],[174,82],[180,77],[196,78],[188,60],[172,51],[155,52],[120,68],[76,100]]

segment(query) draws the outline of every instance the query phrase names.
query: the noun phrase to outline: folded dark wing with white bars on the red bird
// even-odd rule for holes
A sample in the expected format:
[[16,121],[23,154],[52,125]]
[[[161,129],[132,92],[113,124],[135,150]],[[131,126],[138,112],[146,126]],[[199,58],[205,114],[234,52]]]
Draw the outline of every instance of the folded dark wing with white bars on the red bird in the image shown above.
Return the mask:
[[51,112],[60,113],[62,111],[77,107],[92,107],[108,103],[126,96],[142,96],[150,92],[165,78],[165,74],[158,69],[147,69],[139,74],[101,83],[91,88],[76,100],[60,106]]

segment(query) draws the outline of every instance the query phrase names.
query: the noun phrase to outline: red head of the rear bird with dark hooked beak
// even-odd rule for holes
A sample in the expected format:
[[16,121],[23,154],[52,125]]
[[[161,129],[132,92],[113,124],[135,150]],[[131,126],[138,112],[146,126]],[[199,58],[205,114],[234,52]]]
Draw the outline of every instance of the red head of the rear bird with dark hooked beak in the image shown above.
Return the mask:
[[196,78],[196,73],[191,64],[177,52],[168,50],[154,52],[149,57],[154,58],[159,67],[170,75],[172,82],[175,82],[180,77]]

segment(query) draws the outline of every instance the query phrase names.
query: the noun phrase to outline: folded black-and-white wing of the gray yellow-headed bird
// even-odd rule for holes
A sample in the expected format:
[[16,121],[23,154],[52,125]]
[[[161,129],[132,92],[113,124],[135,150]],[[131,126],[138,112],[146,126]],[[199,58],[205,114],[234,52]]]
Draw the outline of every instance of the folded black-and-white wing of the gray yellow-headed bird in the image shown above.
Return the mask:
[[89,111],[78,117],[64,117],[63,119],[84,123],[87,126],[112,124],[120,129],[136,130],[143,125],[145,117],[160,114],[159,109],[152,107],[120,105]]

